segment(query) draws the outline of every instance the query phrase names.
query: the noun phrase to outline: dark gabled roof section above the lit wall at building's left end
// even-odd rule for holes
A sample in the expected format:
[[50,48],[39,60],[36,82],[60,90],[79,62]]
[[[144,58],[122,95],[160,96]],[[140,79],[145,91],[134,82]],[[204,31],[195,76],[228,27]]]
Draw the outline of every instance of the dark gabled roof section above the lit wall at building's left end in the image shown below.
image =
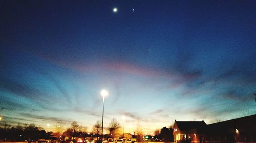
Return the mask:
[[194,128],[204,128],[206,123],[204,121],[175,121],[179,130],[186,131]]

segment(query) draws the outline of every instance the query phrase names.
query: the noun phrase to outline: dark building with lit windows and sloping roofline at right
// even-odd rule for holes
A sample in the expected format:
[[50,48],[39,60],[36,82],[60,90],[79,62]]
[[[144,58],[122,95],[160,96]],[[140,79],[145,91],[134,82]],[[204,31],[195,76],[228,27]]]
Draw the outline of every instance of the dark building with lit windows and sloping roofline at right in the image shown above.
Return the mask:
[[256,142],[256,115],[207,125],[204,121],[176,121],[174,142]]

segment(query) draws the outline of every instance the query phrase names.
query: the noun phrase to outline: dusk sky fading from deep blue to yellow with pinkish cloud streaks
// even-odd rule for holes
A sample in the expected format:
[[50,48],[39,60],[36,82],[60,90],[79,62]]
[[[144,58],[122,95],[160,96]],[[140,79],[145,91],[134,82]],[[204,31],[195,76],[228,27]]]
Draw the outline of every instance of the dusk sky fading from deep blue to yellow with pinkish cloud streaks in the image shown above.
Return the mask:
[[[132,132],[256,113],[256,1],[0,1],[0,123]],[[117,12],[113,12],[117,8]]]

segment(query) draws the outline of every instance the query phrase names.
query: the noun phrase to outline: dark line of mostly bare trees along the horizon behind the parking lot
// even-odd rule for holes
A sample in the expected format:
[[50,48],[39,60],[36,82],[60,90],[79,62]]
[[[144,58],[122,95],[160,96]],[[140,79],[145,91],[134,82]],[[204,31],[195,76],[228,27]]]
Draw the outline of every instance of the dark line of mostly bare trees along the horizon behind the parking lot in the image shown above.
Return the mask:
[[[43,128],[37,127],[35,124],[24,124],[10,126],[4,124],[0,127],[0,141],[36,141],[38,139],[53,139],[61,141],[65,137],[99,137],[101,136],[101,121],[97,121],[92,128],[91,132],[87,132],[87,127],[80,126],[77,122],[72,122],[69,127],[61,123],[54,125],[54,132],[46,132]],[[122,127],[117,120],[112,119],[109,126],[109,134],[104,134],[105,138],[137,138],[137,141],[143,141],[145,134],[143,129],[138,123],[134,134],[122,132]],[[173,141],[173,128],[163,127],[154,132],[155,136],[147,136],[151,141]],[[150,141],[150,140],[148,140]]]

